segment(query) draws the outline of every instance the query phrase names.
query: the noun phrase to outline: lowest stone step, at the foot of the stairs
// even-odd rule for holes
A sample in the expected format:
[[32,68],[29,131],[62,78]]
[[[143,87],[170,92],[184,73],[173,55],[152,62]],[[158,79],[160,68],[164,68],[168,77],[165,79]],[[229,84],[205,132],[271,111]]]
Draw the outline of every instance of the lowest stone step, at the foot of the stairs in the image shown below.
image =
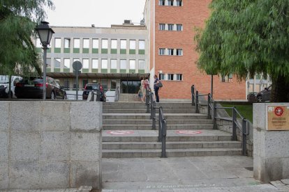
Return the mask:
[[[167,157],[241,155],[241,148],[168,149]],[[161,157],[161,150],[103,150],[103,158]]]

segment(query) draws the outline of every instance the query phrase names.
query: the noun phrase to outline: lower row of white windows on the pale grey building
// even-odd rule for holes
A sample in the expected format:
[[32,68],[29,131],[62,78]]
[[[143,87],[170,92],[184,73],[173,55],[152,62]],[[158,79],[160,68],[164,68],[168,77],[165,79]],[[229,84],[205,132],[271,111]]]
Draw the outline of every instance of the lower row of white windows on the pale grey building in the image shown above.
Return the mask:
[[[74,58],[74,61],[80,61],[79,58]],[[64,68],[71,68],[71,59],[70,58],[64,58]],[[129,63],[129,65],[128,65]],[[110,69],[117,69],[118,65],[121,70],[126,70],[126,66],[128,65],[130,70],[135,70],[135,65],[138,64],[139,70],[144,70],[144,60],[138,60],[135,61],[135,59],[129,60],[129,62],[126,61],[126,59],[110,59]],[[91,66],[91,69],[98,69],[101,67],[101,69],[108,69],[108,59],[97,59],[93,58],[91,59],[91,62],[89,62],[89,58],[83,58],[82,59],[82,68],[83,69],[89,69],[89,66]],[[51,67],[51,58],[47,58],[47,67]],[[54,68],[60,68],[61,67],[61,58],[54,58]]]

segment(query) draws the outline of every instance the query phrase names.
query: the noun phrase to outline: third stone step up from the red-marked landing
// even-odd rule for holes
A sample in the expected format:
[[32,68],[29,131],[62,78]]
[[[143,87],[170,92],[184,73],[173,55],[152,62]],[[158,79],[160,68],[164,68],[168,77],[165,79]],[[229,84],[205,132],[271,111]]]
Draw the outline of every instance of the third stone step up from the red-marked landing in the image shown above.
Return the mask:
[[[206,120],[207,115],[200,113],[165,113],[166,120]],[[149,120],[150,113],[103,113],[103,120]],[[158,113],[156,113],[158,118]]]

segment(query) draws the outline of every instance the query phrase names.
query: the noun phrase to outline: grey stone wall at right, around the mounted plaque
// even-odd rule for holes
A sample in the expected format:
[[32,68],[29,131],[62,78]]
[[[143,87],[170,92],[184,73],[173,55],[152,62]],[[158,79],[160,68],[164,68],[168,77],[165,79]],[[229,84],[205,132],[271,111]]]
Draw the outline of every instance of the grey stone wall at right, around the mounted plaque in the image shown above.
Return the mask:
[[289,178],[289,131],[266,130],[268,105],[289,107],[253,104],[254,177],[262,182]]

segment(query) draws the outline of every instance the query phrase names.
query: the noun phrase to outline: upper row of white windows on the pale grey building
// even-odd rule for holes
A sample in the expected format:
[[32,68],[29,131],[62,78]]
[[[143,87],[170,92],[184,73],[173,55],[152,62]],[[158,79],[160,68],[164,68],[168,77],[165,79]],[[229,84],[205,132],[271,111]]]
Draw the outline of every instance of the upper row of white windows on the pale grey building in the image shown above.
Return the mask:
[[[126,49],[128,40],[120,40],[120,49]],[[89,45],[92,45],[92,49],[99,48],[99,40],[98,39],[89,39],[84,38],[82,39],[82,48],[89,49]],[[117,49],[118,40],[110,40],[110,48]],[[36,47],[41,47],[40,39],[36,39]],[[54,47],[61,48],[61,38],[54,38]],[[64,48],[71,47],[71,38],[64,38]],[[73,38],[73,48],[79,49],[80,48],[80,38]],[[129,40],[129,49],[136,48],[136,40]],[[101,49],[108,49],[108,39],[101,39]],[[145,49],[145,41],[138,40],[138,49]]]

